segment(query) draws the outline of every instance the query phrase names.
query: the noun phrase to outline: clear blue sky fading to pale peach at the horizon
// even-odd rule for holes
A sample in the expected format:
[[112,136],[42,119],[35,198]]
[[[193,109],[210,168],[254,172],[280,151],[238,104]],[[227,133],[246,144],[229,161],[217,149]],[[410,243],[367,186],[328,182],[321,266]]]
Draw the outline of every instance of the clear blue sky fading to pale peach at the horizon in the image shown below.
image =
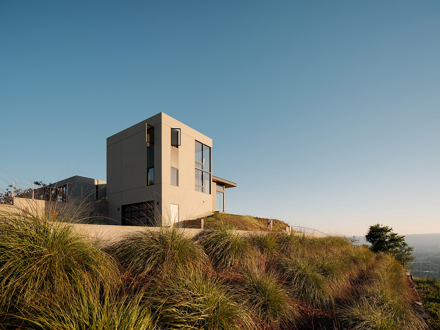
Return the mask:
[[15,181],[106,180],[161,111],[213,139],[229,213],[440,232],[438,1],[0,1]]

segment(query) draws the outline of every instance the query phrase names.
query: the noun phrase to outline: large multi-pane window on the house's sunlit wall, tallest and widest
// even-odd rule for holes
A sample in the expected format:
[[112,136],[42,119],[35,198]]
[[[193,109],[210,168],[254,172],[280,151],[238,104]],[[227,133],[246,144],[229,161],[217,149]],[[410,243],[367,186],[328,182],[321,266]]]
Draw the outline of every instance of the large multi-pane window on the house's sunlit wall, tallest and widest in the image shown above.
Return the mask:
[[211,147],[195,141],[195,190],[211,193]]

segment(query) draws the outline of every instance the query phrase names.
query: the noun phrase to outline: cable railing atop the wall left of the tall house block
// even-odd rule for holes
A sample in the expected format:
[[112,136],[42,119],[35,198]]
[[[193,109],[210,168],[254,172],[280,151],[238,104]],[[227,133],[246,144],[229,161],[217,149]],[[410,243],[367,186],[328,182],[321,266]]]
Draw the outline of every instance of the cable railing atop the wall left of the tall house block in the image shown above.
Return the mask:
[[8,188],[0,189],[0,204],[14,204],[14,198],[67,202],[69,197],[107,199],[107,188],[81,183],[64,183],[58,187],[50,187],[14,182]]

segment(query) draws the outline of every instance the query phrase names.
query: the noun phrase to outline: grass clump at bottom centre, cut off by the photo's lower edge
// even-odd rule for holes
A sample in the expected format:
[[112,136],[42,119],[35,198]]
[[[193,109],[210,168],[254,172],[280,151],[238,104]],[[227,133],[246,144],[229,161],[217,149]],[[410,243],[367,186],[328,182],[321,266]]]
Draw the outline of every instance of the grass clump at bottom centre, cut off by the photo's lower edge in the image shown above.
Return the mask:
[[[246,304],[237,302],[235,290],[228,290],[224,280],[213,275],[200,271],[179,272],[166,281],[155,283],[151,290],[156,297],[153,304],[165,309],[158,319],[162,328],[255,328],[251,311]],[[190,319],[176,322],[181,315]]]

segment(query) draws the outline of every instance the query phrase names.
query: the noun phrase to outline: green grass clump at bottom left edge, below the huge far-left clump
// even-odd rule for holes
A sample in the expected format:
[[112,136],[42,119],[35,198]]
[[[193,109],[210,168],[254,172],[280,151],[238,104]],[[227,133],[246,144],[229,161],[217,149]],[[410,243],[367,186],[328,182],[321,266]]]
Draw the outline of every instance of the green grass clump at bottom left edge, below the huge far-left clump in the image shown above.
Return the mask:
[[153,330],[158,315],[144,302],[145,293],[131,295],[121,290],[101,289],[96,282],[65,299],[50,304],[29,305],[31,312],[19,315],[31,329],[44,330]]

